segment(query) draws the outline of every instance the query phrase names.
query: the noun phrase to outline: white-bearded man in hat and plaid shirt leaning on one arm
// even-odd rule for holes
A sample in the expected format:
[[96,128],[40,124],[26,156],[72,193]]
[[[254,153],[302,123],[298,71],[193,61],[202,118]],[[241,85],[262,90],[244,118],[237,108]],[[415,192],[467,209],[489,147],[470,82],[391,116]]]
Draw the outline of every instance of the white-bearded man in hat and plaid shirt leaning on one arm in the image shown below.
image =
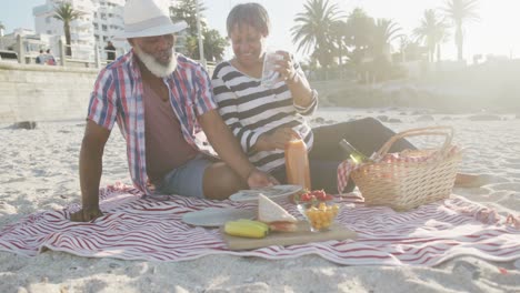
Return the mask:
[[[80,151],[82,210],[71,220],[102,215],[102,154],[114,122],[127,141],[133,184],[147,194],[220,200],[248,185],[277,184],[249,162],[218,114],[204,69],[174,53],[173,33],[186,23],[172,23],[159,0],[129,0],[124,26],[119,39],[132,50],[96,81]],[[213,148],[220,159],[210,156]]]

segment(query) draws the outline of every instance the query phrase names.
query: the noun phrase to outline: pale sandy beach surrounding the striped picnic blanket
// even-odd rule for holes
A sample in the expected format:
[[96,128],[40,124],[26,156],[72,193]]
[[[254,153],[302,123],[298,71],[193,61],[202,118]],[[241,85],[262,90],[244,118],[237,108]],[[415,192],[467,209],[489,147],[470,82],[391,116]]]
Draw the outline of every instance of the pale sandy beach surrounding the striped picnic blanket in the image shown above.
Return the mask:
[[[483,113],[479,113],[480,115]],[[453,193],[520,214],[518,114],[444,114],[417,109],[322,109],[314,124],[376,117],[401,131],[452,125],[464,150],[461,171],[489,184]],[[489,114],[489,115],[488,115]],[[384,117],[384,118],[383,118]],[[321,119],[317,119],[321,118]],[[40,211],[80,201],[78,155],[83,121],[40,122],[34,130],[0,124],[0,229]],[[418,145],[433,141],[417,139]],[[101,186],[130,184],[124,143],[112,132]],[[520,292],[520,259],[490,262],[460,256],[434,267],[343,266],[320,256],[271,261],[231,255],[183,262],[80,257],[47,251],[36,257],[0,251],[0,292]]]

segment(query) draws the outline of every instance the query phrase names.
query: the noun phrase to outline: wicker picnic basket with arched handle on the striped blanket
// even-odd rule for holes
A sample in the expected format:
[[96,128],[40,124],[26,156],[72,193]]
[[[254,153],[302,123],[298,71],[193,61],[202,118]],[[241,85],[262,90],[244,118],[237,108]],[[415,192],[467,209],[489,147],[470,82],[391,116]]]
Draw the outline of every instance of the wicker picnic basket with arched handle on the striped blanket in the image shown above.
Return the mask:
[[[438,149],[387,155],[399,139],[419,135],[443,135],[446,140]],[[451,144],[452,138],[450,127],[412,129],[393,135],[377,153],[381,161],[363,164],[351,173],[366,204],[407,211],[448,198],[462,159],[460,150]]]

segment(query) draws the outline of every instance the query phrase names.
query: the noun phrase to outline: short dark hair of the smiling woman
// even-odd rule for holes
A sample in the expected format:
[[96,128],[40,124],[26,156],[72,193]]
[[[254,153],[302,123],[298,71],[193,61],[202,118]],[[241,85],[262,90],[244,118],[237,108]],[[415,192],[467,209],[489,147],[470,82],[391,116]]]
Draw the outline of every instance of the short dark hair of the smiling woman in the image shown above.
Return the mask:
[[271,26],[267,10],[259,3],[237,4],[229,12],[226,24],[228,36],[231,34],[234,26],[239,26],[239,28],[241,26],[250,26],[268,36],[269,27]]

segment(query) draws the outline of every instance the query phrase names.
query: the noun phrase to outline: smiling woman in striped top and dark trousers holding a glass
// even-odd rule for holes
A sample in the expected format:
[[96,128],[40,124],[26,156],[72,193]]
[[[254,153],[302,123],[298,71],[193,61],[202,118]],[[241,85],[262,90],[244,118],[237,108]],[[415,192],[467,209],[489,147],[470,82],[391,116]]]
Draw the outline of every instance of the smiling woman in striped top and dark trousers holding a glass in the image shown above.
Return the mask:
[[[316,111],[318,93],[292,54],[278,51],[283,57],[277,62],[280,78],[273,88],[261,84],[269,27],[269,16],[258,3],[238,4],[230,11],[227,30],[234,57],[218,64],[212,77],[220,114],[249,160],[282,183],[287,183],[284,145],[294,135],[302,138],[312,188],[337,193],[337,168],[347,158],[339,141],[346,139],[371,155],[394,132],[372,118],[311,129],[306,117]],[[404,149],[414,146],[401,140],[391,151]],[[352,189],[350,183],[347,190]]]

